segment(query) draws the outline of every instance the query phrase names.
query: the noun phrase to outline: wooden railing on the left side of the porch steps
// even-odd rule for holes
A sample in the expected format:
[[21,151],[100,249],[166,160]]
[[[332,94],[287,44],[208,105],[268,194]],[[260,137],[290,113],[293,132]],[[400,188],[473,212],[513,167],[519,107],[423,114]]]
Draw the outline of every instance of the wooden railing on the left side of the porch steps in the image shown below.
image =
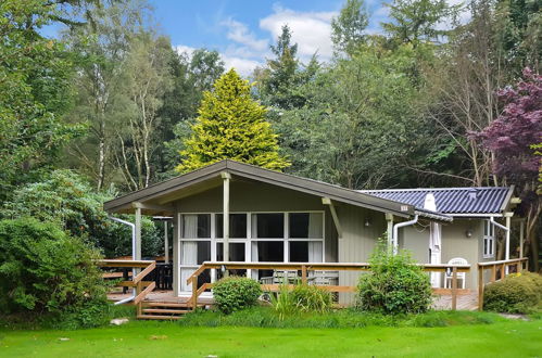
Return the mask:
[[156,268],[156,261],[153,260],[128,260],[128,259],[102,259],[98,260],[98,266],[100,267],[112,267],[112,268],[135,268],[141,269],[137,274],[133,274],[133,279],[128,281],[121,281],[117,283],[118,286],[123,287],[135,287],[136,295],[133,299],[133,304],[137,307],[137,315],[141,315],[142,305],[144,297],[154,290],[156,283],[154,281],[143,281],[143,278],[151,273],[152,270]]

